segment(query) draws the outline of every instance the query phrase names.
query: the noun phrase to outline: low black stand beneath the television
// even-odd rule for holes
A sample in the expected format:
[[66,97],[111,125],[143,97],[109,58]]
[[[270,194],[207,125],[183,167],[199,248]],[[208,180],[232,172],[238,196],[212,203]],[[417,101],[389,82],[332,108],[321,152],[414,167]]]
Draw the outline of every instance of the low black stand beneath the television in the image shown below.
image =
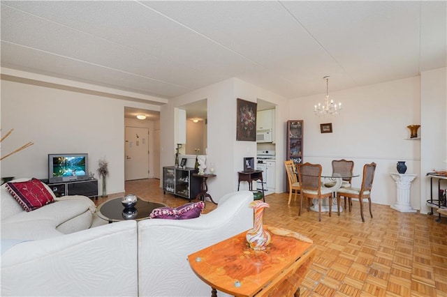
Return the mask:
[[43,180],[43,182],[50,187],[56,197],[82,195],[98,199],[98,180],[95,178],[85,181],[65,181],[61,183],[48,183],[48,180]]

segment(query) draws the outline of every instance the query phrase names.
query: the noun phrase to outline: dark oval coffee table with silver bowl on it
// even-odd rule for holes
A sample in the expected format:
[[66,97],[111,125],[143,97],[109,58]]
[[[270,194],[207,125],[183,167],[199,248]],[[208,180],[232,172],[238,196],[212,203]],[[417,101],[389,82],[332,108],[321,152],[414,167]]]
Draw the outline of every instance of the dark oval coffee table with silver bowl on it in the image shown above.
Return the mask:
[[98,206],[98,217],[111,222],[119,222],[122,220],[144,220],[149,218],[149,215],[155,208],[164,207],[165,204],[144,201],[138,198],[137,204],[134,208],[125,209],[121,204],[122,197],[110,199]]

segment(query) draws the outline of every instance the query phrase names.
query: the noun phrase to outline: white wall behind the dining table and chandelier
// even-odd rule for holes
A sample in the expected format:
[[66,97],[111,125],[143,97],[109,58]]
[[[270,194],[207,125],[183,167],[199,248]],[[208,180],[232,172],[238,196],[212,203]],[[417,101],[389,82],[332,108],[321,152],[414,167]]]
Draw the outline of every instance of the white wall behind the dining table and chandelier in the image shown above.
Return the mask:
[[[304,161],[320,163],[323,172],[331,172],[333,159],[353,160],[354,172],[360,174],[353,178],[354,186],[360,186],[363,165],[376,162],[372,201],[388,205],[396,199],[390,173],[397,172],[397,161],[405,161],[406,173],[418,174],[411,185],[411,206],[420,209],[420,140],[406,139],[406,126],[420,123],[420,78],[330,91],[329,95],[342,102],[342,112],[336,117],[312,112],[314,105],[323,102],[323,93],[290,102],[289,118],[304,120]],[[322,134],[321,123],[332,123],[333,132]]]

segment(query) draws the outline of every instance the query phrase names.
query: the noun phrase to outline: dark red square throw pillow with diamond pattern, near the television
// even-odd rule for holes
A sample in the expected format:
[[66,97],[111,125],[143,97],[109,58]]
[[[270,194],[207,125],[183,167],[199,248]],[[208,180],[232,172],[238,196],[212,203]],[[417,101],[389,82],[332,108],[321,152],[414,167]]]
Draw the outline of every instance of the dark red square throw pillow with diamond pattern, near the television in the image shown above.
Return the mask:
[[6,183],[6,190],[13,195],[25,211],[34,211],[54,202],[54,197],[37,178],[17,183]]

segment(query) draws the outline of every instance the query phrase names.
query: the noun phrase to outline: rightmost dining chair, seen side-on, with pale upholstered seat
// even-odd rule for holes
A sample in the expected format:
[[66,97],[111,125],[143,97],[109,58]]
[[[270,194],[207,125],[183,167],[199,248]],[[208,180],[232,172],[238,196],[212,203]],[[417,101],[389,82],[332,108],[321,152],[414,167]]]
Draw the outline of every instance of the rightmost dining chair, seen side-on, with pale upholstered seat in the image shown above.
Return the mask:
[[356,198],[360,201],[360,215],[362,216],[362,221],[365,222],[365,218],[363,218],[363,199],[368,199],[369,204],[369,215],[372,218],[371,211],[371,190],[372,190],[372,181],[374,181],[374,173],[376,172],[376,163],[372,162],[371,164],[365,164],[363,166],[363,178],[362,178],[362,186],[361,188],[339,188],[337,190],[337,213],[340,215],[340,197],[348,198],[349,211],[351,212],[351,199]]

